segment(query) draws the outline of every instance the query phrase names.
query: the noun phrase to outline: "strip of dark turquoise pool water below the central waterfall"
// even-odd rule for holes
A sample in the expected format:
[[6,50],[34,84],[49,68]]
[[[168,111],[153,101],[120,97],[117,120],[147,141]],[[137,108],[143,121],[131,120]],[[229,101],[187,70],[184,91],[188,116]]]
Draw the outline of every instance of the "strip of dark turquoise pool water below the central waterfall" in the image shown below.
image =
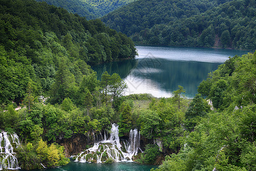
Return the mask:
[[116,162],[113,164],[89,164],[72,161],[66,166],[54,169],[47,169],[47,171],[149,171],[152,168],[157,168],[157,166],[139,165],[136,164],[135,162]]

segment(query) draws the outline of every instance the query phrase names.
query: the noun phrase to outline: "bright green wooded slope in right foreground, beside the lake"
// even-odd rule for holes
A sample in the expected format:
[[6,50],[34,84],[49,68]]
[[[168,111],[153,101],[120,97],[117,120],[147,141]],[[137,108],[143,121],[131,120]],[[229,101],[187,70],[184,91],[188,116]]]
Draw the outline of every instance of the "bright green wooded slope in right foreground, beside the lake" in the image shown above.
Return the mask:
[[213,111],[194,97],[185,115],[193,132],[184,133],[181,150],[159,170],[254,170],[255,74],[255,54],[230,58],[210,74],[198,89],[209,88]]

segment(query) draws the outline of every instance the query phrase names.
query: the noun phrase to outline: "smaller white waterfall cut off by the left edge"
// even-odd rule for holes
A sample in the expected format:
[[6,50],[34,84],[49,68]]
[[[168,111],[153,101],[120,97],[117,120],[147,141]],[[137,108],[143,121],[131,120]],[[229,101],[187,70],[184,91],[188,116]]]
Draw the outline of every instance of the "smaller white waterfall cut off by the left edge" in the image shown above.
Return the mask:
[[[7,132],[0,133],[0,170],[20,169],[18,166],[18,160],[15,157],[13,148],[19,146],[19,137],[16,133],[8,134]],[[14,147],[13,147],[14,146]]]

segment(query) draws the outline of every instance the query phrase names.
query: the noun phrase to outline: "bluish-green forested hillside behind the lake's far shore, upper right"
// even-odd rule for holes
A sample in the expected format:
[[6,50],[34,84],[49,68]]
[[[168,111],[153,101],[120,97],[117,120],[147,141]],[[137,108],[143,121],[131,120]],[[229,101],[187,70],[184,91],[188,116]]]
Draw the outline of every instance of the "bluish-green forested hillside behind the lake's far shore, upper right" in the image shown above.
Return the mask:
[[255,1],[139,0],[102,18],[139,44],[255,50]]

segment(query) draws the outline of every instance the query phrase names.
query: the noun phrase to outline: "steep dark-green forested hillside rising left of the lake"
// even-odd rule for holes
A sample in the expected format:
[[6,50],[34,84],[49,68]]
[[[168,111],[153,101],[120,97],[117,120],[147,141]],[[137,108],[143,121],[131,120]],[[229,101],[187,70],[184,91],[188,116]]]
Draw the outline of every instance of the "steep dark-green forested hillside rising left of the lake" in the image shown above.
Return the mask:
[[0,104],[21,103],[29,82],[37,95],[48,92],[62,64],[76,85],[87,63],[135,58],[132,40],[99,19],[32,0],[1,0],[0,9]]

